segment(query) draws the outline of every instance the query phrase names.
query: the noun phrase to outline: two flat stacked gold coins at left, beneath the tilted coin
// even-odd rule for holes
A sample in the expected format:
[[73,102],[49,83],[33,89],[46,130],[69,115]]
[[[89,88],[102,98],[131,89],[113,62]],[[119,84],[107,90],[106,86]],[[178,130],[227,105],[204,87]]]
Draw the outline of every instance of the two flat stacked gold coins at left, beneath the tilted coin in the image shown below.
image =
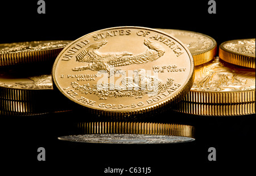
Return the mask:
[[[20,71],[20,70],[19,70]],[[53,91],[52,75],[2,71],[0,73],[0,114],[34,115],[70,110]]]

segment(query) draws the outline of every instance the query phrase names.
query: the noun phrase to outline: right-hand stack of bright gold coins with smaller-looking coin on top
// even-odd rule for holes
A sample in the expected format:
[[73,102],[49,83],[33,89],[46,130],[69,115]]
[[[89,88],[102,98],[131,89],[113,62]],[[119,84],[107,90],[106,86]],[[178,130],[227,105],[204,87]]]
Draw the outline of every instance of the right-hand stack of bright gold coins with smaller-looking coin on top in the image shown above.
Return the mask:
[[226,41],[219,55],[195,68],[193,87],[175,110],[197,115],[255,113],[255,38]]

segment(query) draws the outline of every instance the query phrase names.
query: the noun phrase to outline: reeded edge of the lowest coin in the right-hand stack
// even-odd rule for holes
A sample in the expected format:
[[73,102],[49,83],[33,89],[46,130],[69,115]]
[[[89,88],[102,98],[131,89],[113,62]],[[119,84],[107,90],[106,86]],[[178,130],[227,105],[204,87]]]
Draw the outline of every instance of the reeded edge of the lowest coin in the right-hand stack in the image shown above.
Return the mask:
[[255,101],[241,104],[200,104],[181,101],[174,111],[194,115],[230,116],[255,114]]

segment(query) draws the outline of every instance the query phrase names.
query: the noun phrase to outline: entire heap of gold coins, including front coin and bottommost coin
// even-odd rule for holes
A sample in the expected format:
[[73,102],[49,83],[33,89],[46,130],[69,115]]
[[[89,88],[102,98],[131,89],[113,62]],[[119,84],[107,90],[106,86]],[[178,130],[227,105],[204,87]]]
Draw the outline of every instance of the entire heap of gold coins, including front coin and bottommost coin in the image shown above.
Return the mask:
[[129,120],[170,105],[175,111],[197,115],[255,113],[255,39],[224,42],[219,51],[220,58],[217,42],[202,33],[144,27],[101,29],[73,42],[0,44],[0,66],[8,69],[55,60],[52,75],[39,74],[36,67],[2,72],[0,113],[67,110],[67,100],[86,113],[111,118],[79,123],[79,135],[61,140],[193,141],[192,126]]

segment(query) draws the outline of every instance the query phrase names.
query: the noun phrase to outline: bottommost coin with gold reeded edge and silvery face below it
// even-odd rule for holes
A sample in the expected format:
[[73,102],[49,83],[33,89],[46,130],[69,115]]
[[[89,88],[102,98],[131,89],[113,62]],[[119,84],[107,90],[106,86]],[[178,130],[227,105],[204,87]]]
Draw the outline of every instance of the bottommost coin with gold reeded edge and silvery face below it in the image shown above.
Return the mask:
[[195,128],[189,125],[148,122],[79,123],[81,135],[58,139],[82,143],[162,144],[195,140]]

